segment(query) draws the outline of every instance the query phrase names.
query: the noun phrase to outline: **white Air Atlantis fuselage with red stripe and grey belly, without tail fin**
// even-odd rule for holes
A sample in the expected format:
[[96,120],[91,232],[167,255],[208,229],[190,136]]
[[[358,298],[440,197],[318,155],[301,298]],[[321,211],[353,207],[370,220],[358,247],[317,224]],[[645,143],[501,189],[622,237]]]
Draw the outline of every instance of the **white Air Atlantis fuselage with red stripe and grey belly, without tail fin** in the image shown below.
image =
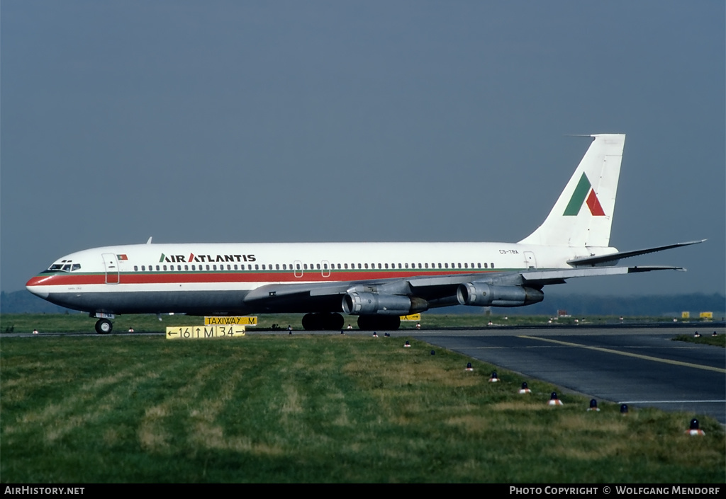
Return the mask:
[[[615,251],[599,248],[597,254]],[[134,244],[62,257],[30,279],[27,288],[90,313],[264,313],[272,310],[250,310],[243,300],[269,284],[318,286],[571,268],[567,260],[592,254],[584,247],[512,243]],[[340,311],[338,301],[331,305],[338,310],[326,311]],[[282,306],[291,312],[318,311]]]

